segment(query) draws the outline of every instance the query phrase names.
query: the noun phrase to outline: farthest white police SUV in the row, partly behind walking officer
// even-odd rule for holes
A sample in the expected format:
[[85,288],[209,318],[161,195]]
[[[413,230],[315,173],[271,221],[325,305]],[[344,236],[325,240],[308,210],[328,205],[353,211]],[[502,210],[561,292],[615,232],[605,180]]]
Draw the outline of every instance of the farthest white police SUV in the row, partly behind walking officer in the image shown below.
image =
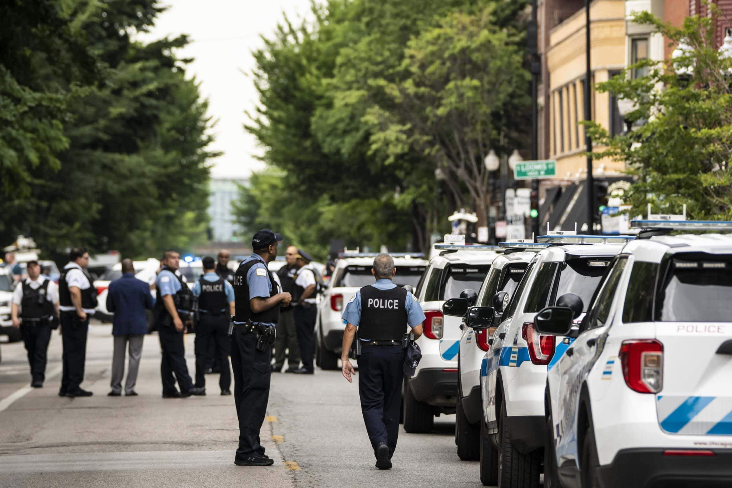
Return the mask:
[[[340,318],[343,307],[366,285],[373,285],[371,274],[376,253],[348,252],[340,258],[333,271],[323,298],[318,304],[318,318],[315,321],[315,361],[321,369],[338,369],[338,359],[343,348],[343,331],[346,322]],[[419,253],[394,253],[397,286],[417,288],[419,279],[427,269],[427,260]]]

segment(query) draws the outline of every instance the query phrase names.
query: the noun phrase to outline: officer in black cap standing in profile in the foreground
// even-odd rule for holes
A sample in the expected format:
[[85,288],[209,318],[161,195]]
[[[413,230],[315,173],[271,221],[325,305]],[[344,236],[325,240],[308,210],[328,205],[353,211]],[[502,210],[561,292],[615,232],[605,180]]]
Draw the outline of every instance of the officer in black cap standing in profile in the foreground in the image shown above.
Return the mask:
[[[234,276],[234,331],[231,334],[231,367],[234,368],[234,401],[239,417],[239,448],[234,464],[269,466],[274,463],[259,442],[264,422],[269,379],[272,375],[272,347],[261,347],[264,334],[277,324],[280,306],[290,304],[290,293],[279,293],[267,264],[277,256],[280,234],[262,229],[252,238],[253,254],[242,261]],[[269,334],[267,334],[269,335]],[[258,347],[260,346],[260,347]]]

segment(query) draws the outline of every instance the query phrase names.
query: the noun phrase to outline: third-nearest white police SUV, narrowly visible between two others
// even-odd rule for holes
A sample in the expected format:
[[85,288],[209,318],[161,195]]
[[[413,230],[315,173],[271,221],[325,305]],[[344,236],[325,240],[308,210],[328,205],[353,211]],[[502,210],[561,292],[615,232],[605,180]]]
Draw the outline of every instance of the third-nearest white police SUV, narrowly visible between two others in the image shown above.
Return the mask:
[[[534,252],[512,252],[498,255],[490,265],[490,271],[480,289],[475,305],[501,309],[521,281]],[[461,299],[451,299],[457,301]],[[447,303],[444,314],[449,315]],[[501,322],[501,312],[495,314],[492,323]],[[480,447],[480,367],[485,352],[490,348],[496,327],[470,327],[463,319],[460,324],[460,352],[458,353],[458,407],[455,418],[455,444],[458,457],[463,460],[479,458]]]

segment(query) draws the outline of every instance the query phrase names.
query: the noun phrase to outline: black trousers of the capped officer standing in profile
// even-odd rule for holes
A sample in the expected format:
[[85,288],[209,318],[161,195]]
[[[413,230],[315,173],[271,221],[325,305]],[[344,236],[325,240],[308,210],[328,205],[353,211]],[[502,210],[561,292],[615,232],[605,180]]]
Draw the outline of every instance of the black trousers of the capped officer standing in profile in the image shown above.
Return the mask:
[[259,431],[269,401],[272,348],[257,349],[257,334],[234,329],[231,334],[231,367],[234,369],[234,402],[239,417],[239,448],[236,459],[264,454]]

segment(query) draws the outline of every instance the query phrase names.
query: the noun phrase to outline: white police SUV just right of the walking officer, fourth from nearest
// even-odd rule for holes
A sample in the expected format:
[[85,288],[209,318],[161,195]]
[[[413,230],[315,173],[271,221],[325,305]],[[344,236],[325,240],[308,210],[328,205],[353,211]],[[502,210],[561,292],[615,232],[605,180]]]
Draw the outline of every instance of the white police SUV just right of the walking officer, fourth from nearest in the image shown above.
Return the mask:
[[[438,244],[439,245],[439,244]],[[447,244],[445,244],[447,245]],[[436,246],[437,247],[437,246]],[[443,315],[447,299],[472,290],[473,300],[498,251],[479,250],[483,246],[442,249],[430,260],[415,296],[425,311],[424,334],[417,339],[422,351],[417,371],[406,378],[403,390],[403,420],[406,432],[429,432],[435,416],[455,413],[458,402],[458,348],[460,316]]]

